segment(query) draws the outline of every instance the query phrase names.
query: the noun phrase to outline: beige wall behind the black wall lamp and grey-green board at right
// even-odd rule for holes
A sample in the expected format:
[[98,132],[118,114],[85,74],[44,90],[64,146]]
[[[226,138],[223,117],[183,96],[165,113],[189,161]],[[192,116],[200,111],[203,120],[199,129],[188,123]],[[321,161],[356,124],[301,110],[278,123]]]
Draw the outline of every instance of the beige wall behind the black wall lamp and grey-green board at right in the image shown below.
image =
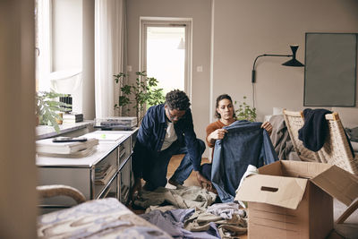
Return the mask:
[[[305,32],[358,32],[358,1],[214,0],[214,19],[213,95],[247,96],[251,103],[257,55],[289,55],[289,45],[298,44],[297,58],[304,63]],[[256,64],[258,120],[271,115],[272,107],[303,109],[304,69],[282,66],[286,60],[261,57]],[[358,124],[358,110],[352,112],[346,121]]]

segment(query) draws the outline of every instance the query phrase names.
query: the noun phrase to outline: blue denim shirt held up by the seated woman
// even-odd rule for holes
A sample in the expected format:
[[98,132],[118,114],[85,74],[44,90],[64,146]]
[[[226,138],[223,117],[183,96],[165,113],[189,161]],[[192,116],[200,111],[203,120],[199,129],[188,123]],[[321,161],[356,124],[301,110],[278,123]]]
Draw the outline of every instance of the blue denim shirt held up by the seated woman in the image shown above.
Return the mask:
[[261,124],[236,121],[224,127],[225,138],[215,142],[211,182],[221,201],[234,201],[235,190],[247,166],[260,167],[278,160],[268,132]]

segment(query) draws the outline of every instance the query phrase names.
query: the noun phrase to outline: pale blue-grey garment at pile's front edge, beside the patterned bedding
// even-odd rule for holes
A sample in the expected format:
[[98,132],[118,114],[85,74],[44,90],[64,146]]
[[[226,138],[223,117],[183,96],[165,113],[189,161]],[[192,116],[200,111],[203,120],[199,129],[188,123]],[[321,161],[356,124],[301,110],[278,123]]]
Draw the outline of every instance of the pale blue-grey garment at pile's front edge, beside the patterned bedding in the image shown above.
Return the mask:
[[183,222],[189,218],[194,209],[173,209],[166,212],[158,209],[140,215],[151,224],[158,226],[174,238],[193,238],[193,239],[214,239],[219,238],[215,223],[209,223],[205,229],[191,232],[183,228]]

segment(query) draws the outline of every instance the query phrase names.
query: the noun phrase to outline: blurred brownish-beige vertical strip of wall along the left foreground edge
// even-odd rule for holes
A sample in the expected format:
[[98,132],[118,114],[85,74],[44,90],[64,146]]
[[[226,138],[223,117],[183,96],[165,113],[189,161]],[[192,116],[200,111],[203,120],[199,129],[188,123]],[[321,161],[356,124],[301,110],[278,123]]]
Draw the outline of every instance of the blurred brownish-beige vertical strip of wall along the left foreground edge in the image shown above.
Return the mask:
[[36,238],[34,1],[0,1],[0,238]]

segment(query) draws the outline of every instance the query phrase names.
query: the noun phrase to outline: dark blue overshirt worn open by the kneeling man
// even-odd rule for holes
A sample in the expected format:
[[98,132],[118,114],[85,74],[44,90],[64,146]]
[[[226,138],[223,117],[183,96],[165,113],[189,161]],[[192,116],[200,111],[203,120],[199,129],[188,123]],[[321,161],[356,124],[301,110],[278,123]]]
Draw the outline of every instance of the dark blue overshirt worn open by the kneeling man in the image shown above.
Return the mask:
[[[141,173],[145,170],[143,160],[155,160],[158,156],[166,137],[166,120],[164,104],[149,107],[144,115],[132,157],[134,176],[141,177]],[[192,124],[192,111],[187,109],[185,115],[174,125],[178,143],[187,147],[191,155],[193,169],[199,171],[201,154]]]

